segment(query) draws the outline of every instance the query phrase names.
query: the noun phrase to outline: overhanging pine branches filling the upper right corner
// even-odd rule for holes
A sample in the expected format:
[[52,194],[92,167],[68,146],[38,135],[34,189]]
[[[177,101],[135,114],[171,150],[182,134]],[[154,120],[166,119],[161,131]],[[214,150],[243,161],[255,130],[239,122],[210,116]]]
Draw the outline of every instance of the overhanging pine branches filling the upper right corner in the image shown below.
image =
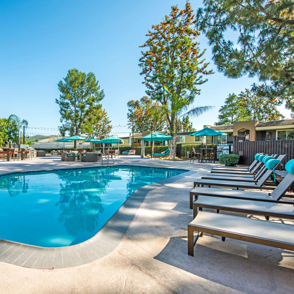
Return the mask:
[[[257,76],[260,97],[286,99],[294,93],[294,19],[292,0],[204,0],[196,27],[213,46],[218,71],[230,78]],[[239,32],[237,44],[225,33]],[[237,33],[238,34],[238,33]]]

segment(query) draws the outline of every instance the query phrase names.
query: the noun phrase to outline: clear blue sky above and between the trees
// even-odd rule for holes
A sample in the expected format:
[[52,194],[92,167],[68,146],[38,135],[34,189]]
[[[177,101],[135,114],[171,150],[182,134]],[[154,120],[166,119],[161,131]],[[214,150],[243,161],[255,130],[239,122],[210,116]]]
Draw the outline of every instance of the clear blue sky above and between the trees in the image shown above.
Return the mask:
[[[30,127],[57,128],[59,97],[57,83],[68,69],[93,71],[104,89],[103,108],[113,126],[126,125],[126,103],[145,95],[138,59],[145,34],[170,13],[177,1],[1,1],[0,117],[14,113]],[[200,1],[191,1],[194,11]],[[198,37],[205,57],[211,48],[204,35]],[[208,68],[216,69],[213,62]],[[250,88],[256,79],[228,79],[216,72],[201,87],[194,106],[215,106],[192,119],[198,130],[217,121],[218,110],[229,93]],[[289,118],[283,106],[279,110]],[[128,131],[113,128],[112,132]],[[45,133],[30,130],[32,133]],[[58,131],[46,131],[58,133]],[[120,134],[120,136],[124,136]]]

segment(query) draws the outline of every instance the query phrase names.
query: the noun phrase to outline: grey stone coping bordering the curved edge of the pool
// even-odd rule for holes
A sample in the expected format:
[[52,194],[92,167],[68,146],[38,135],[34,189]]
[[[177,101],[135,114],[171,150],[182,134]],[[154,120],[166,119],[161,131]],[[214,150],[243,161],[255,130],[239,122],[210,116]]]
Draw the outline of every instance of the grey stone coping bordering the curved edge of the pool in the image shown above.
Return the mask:
[[[120,164],[115,166],[128,165]],[[144,168],[144,166],[141,167]],[[165,186],[166,184],[172,183],[174,181],[178,181],[181,178],[184,178],[190,174],[197,173],[197,171],[187,169],[167,169],[183,170],[185,172],[173,176],[171,178],[163,179],[161,181],[146,186],[142,186],[136,189],[131,194],[131,196],[129,196],[128,199],[123,203],[123,205],[113,214],[113,216],[111,216],[111,218],[103,225],[103,227],[95,235],[93,235],[93,237],[89,238],[88,240],[85,240],[76,245],[69,245],[63,247],[41,247],[14,242],[10,240],[4,240],[0,238],[0,250],[3,247],[5,249],[4,252],[0,254],[0,261],[3,263],[8,263],[25,268],[55,270],[73,267],[76,268],[77,266],[83,266],[100,260],[101,258],[116,250],[118,245],[125,238],[126,234],[128,233],[128,230],[131,227],[131,224],[133,223],[133,220],[136,216],[138,209],[140,208],[140,206],[142,205],[143,201],[145,200],[146,196],[150,191]],[[3,176],[11,174],[13,175],[15,173],[4,174]],[[19,252],[17,253],[18,250]],[[25,258],[26,256],[27,258]]]

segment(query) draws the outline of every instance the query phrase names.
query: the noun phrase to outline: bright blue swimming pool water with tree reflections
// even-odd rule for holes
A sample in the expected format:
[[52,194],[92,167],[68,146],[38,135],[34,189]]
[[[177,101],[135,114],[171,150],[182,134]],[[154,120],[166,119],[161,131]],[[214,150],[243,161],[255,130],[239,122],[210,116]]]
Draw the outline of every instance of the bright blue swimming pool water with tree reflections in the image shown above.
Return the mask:
[[116,166],[0,177],[0,238],[43,247],[81,243],[136,189],[183,172]]

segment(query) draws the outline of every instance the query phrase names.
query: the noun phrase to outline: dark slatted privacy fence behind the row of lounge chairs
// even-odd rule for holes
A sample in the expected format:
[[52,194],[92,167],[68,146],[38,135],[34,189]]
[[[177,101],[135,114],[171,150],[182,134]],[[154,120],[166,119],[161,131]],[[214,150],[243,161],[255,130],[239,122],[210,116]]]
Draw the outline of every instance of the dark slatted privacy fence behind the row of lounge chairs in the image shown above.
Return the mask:
[[240,155],[239,164],[250,165],[256,153],[286,154],[286,162],[294,158],[294,140],[234,142],[233,153]]

